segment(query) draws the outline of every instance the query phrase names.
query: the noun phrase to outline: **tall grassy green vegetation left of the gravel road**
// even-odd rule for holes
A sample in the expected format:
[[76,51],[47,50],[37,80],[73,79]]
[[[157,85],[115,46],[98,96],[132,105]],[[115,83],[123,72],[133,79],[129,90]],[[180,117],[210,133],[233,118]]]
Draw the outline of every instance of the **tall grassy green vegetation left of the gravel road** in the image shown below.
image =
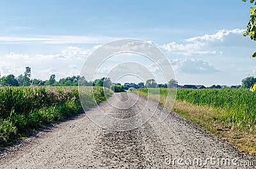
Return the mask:
[[[111,96],[102,87],[84,87],[90,108]],[[94,96],[93,96],[94,95]],[[77,87],[1,87],[0,88],[0,145],[9,145],[25,133],[58,122],[83,111]]]

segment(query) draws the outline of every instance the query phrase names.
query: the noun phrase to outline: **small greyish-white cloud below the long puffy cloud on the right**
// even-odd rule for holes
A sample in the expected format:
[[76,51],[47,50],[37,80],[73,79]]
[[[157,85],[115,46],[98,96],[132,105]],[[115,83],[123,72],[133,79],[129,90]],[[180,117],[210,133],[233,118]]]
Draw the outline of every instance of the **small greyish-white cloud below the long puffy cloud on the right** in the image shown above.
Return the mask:
[[199,59],[175,59],[170,61],[173,69],[182,73],[216,73],[220,70],[214,68],[209,62]]

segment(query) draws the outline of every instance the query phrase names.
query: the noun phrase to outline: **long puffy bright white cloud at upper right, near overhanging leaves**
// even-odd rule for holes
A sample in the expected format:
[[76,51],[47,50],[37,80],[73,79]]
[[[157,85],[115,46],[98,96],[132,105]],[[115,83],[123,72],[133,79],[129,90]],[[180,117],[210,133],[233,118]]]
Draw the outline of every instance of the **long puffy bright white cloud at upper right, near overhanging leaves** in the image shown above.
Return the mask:
[[[215,34],[205,34],[204,36],[195,36],[183,40],[182,43],[172,41],[170,43],[160,45],[167,52],[180,55],[222,55],[223,52],[216,50],[205,50],[211,47],[230,47],[245,44],[243,37],[245,29],[220,30]],[[246,43],[248,45],[248,43]]]

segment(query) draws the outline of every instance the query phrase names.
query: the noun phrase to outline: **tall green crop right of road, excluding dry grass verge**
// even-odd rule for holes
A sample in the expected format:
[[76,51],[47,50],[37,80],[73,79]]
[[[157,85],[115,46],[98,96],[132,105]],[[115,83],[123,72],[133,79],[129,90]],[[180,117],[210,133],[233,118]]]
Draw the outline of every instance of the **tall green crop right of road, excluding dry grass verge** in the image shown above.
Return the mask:
[[[157,90],[154,93],[152,89],[140,89],[139,92],[158,94]],[[172,89],[159,89],[160,96],[167,96],[170,92],[168,90]],[[218,108],[221,110],[218,118],[222,118],[219,120],[223,124],[255,132],[256,92],[248,89],[177,89],[176,99],[193,105]]]

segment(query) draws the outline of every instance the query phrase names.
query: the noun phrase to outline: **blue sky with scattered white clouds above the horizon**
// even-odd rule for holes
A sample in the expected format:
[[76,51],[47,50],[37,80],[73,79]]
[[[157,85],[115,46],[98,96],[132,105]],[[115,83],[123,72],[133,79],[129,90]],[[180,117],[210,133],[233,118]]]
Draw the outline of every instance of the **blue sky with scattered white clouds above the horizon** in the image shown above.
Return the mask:
[[[26,66],[31,78],[42,80],[79,75],[100,45],[134,38],[166,55],[180,85],[239,85],[243,78],[256,77],[256,59],[249,57],[256,42],[243,37],[251,6],[241,0],[2,0],[1,76],[18,76]],[[111,59],[124,62],[122,56]],[[129,80],[134,78],[120,82]]]

